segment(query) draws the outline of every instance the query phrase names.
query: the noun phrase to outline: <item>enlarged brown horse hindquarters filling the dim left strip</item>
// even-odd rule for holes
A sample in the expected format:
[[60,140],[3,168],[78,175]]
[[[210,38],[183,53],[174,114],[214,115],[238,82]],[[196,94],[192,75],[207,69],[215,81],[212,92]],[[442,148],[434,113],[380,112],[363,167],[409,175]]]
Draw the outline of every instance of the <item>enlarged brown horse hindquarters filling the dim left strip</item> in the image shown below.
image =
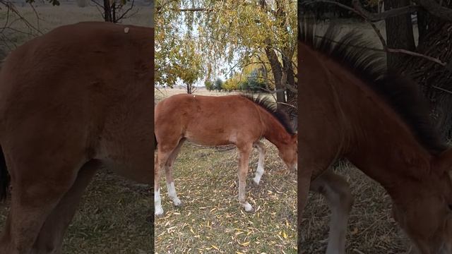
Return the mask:
[[[83,190],[100,167],[152,181],[153,32],[78,23],[7,57],[0,144],[13,193],[0,253],[61,253]],[[5,181],[2,167],[3,197]]]

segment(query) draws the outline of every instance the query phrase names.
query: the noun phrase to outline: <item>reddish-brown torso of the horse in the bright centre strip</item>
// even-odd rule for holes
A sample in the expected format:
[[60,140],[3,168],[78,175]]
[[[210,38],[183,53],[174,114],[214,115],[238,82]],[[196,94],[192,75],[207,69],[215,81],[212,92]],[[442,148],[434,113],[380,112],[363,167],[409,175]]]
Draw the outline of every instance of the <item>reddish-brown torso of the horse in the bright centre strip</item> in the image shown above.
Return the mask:
[[182,136],[200,145],[226,145],[237,143],[244,133],[259,138],[256,107],[241,95],[173,95],[155,108],[157,140]]

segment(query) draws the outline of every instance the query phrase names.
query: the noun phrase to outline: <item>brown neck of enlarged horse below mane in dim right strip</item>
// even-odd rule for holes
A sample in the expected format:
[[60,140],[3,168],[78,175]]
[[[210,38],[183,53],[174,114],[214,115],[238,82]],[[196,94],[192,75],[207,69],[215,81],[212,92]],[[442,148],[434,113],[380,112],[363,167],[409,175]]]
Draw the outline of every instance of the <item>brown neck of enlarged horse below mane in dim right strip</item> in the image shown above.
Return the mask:
[[[340,71],[337,64],[330,70]],[[350,73],[337,84],[340,111],[347,123],[345,155],[390,193],[407,181],[421,181],[429,174],[432,155],[415,138],[408,125],[386,102]],[[340,75],[339,75],[340,74]],[[345,96],[345,91],[347,95]]]

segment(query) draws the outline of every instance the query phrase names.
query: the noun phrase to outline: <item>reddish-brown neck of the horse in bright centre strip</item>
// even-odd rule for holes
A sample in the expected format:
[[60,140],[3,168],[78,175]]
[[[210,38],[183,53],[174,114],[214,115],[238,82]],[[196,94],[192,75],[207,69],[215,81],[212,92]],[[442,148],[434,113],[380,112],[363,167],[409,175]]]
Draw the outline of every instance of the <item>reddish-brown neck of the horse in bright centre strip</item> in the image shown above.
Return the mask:
[[274,116],[263,109],[259,109],[259,114],[264,125],[263,137],[278,148],[287,145],[290,140],[290,134],[287,133],[284,126]]

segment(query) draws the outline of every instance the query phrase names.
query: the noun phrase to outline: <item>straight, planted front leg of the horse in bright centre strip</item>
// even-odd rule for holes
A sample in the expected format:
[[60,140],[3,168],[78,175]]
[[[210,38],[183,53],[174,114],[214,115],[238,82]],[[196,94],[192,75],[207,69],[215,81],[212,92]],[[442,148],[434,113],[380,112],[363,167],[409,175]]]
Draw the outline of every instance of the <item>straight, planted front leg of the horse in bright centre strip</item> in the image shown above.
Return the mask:
[[249,155],[253,146],[241,145],[237,146],[240,154],[239,162],[239,203],[242,205],[246,212],[254,212],[254,208],[246,202],[246,174],[248,174]]

